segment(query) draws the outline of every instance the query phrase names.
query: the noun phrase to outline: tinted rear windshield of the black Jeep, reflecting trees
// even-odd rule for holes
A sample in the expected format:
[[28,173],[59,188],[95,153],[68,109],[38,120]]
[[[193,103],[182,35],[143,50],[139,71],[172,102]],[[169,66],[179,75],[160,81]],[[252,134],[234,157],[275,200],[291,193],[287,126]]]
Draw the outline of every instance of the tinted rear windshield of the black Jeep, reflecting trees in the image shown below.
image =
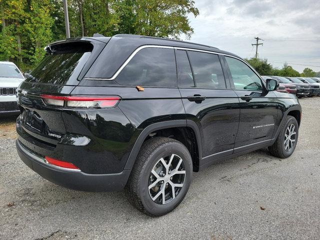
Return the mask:
[[92,51],[92,44],[63,43],[47,48],[47,53],[29,74],[26,81],[50,84],[75,84],[83,65]]

